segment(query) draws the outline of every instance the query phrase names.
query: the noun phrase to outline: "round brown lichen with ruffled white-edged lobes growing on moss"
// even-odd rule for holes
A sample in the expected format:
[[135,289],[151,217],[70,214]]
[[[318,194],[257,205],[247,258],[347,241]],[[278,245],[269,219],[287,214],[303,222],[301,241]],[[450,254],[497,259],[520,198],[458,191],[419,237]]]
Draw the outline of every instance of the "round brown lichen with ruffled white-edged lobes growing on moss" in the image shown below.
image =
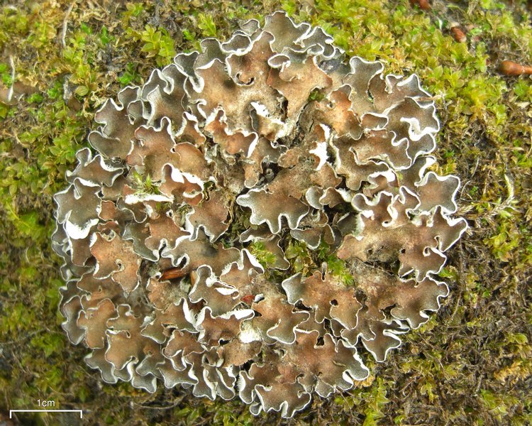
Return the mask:
[[438,310],[460,180],[415,75],[279,12],[201,46],[101,107],[55,195],[63,328],[106,382],[291,417]]

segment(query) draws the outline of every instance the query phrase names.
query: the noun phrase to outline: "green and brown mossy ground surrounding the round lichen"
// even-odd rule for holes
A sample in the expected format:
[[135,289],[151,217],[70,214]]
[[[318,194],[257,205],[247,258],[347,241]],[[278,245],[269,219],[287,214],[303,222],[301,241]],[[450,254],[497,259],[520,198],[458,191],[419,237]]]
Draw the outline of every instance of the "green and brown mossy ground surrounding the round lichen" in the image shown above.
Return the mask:
[[[283,422],[276,414],[255,418],[239,400],[103,383],[84,364],[87,351],[60,328],[60,263],[50,249],[52,195],[65,186],[104,99],[201,38],[227,38],[241,21],[277,9],[324,26],[348,55],[420,75],[442,122],[440,169],[462,178],[458,214],[470,224],[441,273],[451,294],[438,314],[385,363],[369,361],[372,376],[358,388],[315,398],[288,423],[531,424],[532,84],[497,72],[501,60],[532,62],[526,1],[434,0],[431,11],[407,0],[1,4],[0,424]],[[466,43],[450,35],[455,22]],[[38,408],[38,400],[83,409],[84,420],[57,413],[5,420],[9,409]]]

